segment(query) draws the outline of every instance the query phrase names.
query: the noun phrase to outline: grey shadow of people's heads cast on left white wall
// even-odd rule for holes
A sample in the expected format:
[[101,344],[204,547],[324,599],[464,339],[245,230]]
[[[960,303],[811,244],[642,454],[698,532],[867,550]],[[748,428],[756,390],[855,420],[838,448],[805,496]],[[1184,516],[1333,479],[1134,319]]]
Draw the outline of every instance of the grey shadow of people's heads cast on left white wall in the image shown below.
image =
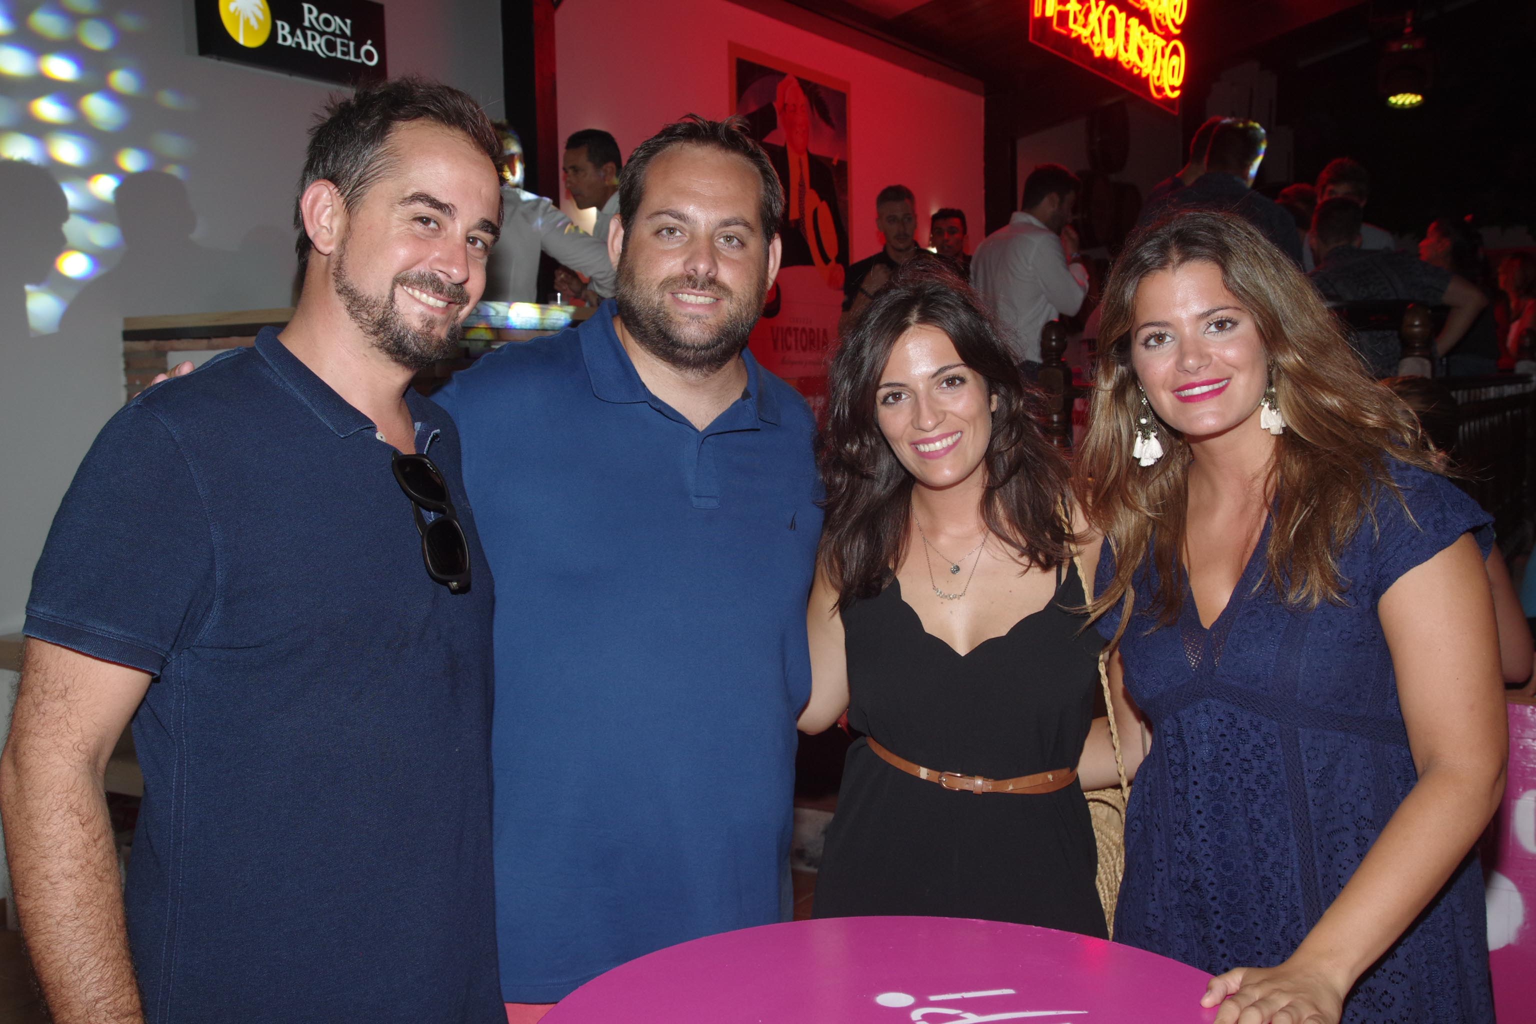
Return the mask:
[[134,173],[112,197],[123,249],[75,295],[58,332],[31,336],[26,286],[65,250],[65,192],[48,170],[0,161],[0,471],[25,484],[0,502],[0,633],[20,628],[32,567],[75,467],[123,405],[123,318],[203,313],[289,302],[293,243],[252,229],[240,250],[192,241],[197,213],[180,178]]

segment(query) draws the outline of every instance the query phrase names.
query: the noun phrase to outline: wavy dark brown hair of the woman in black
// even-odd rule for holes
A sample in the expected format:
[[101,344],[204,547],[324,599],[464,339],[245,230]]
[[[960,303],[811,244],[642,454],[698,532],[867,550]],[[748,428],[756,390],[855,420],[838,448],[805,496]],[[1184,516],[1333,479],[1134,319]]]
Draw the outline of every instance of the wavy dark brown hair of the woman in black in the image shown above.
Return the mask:
[[1061,565],[1078,540],[1063,514],[1071,470],[1040,427],[1040,393],[1018,372],[975,292],[938,261],[912,259],[865,309],[828,373],[817,453],[826,524],[817,560],[839,608],[880,593],[906,554],[912,476],[880,433],[876,390],[895,342],[917,325],[945,332],[997,399],[983,461],[988,530],[1032,568]]

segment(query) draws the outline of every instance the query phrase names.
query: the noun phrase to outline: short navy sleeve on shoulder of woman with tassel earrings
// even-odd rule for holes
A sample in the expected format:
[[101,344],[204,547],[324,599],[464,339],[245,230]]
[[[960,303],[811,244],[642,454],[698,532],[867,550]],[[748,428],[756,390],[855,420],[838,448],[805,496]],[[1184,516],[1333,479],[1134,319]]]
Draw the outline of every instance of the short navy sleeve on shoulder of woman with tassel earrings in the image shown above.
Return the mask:
[[[1392,476],[1402,491],[1399,502],[1384,491],[1376,497],[1372,579],[1375,597],[1409,570],[1428,562],[1464,533],[1470,533],[1488,557],[1493,550],[1493,516],[1438,473],[1393,465]],[[1369,525],[1361,528],[1369,534]]]

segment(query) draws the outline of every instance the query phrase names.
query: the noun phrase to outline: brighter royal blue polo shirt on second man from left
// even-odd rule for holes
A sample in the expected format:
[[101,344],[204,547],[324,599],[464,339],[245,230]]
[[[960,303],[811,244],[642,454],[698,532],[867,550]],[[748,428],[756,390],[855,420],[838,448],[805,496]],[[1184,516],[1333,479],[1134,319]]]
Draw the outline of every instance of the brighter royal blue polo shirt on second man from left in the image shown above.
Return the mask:
[[664,946],[779,920],[814,421],[746,361],[705,430],[613,329],[504,345],[438,401],[498,580],[502,993],[550,1003]]

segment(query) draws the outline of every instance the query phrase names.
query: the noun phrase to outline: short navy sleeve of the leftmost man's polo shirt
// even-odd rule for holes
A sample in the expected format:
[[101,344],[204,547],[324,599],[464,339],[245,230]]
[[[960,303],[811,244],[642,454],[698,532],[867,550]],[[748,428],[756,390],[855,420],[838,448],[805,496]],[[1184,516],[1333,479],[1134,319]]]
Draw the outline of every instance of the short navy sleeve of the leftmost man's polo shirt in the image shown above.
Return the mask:
[[158,676],[215,593],[207,505],[170,430],[135,402],[97,434],[54,516],[25,633]]

